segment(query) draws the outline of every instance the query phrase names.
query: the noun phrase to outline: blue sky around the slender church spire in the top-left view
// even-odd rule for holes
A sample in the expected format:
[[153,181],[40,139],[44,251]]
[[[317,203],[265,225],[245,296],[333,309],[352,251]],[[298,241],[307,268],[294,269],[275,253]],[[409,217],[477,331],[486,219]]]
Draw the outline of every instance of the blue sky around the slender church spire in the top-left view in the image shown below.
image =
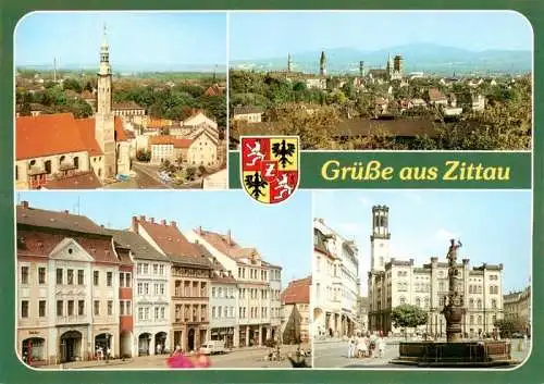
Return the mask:
[[116,67],[226,65],[226,15],[217,13],[37,12],[15,32],[16,65],[98,66],[103,24]]

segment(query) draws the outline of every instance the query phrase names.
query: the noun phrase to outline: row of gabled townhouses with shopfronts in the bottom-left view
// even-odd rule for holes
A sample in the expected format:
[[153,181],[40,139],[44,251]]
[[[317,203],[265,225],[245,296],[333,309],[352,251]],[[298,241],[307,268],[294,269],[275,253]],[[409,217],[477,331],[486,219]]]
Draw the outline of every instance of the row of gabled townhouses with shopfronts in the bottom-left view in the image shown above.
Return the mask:
[[230,233],[145,216],[109,230],[26,201],[16,220],[16,350],[33,364],[281,337],[281,268]]

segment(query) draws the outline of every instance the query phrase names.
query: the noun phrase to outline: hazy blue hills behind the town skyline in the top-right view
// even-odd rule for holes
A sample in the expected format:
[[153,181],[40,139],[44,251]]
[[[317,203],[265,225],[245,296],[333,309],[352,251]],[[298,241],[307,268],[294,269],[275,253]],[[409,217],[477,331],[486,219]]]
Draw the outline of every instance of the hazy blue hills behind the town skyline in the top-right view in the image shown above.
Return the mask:
[[[524,74],[531,72],[531,51],[484,50],[470,51],[461,48],[445,47],[433,44],[415,44],[392,47],[378,51],[364,51],[353,48],[335,48],[325,50],[329,73],[358,73],[359,61],[364,67],[385,67],[387,57],[400,54],[404,59],[404,71],[423,72],[425,74]],[[321,52],[290,53],[293,71],[308,73],[319,72]],[[259,60],[233,60],[231,67],[254,69],[257,71],[277,71],[287,67],[287,52],[284,58]]]

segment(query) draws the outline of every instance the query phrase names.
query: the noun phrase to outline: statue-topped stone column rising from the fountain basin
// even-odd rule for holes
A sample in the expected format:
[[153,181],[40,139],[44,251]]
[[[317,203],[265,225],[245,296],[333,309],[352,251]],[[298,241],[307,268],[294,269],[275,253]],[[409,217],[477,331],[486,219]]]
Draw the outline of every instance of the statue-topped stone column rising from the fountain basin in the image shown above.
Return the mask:
[[446,318],[446,338],[447,343],[458,343],[462,338],[461,322],[465,315],[465,302],[462,294],[459,294],[459,268],[457,265],[457,249],[461,247],[461,243],[452,245],[447,252],[448,259],[448,294],[444,297],[444,309],[442,313]]

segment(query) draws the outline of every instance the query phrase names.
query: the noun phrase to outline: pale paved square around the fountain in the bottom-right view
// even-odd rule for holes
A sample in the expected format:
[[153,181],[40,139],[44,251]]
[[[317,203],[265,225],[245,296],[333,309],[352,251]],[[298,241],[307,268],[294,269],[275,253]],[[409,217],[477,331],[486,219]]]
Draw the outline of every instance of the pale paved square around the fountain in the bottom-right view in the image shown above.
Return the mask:
[[[316,368],[415,368],[409,366],[398,366],[390,363],[398,356],[398,339],[387,340],[383,358],[348,359],[348,344],[345,340],[325,340],[313,344]],[[524,350],[518,350],[518,339],[512,340],[511,356],[515,360],[523,361],[530,350],[528,346]]]

